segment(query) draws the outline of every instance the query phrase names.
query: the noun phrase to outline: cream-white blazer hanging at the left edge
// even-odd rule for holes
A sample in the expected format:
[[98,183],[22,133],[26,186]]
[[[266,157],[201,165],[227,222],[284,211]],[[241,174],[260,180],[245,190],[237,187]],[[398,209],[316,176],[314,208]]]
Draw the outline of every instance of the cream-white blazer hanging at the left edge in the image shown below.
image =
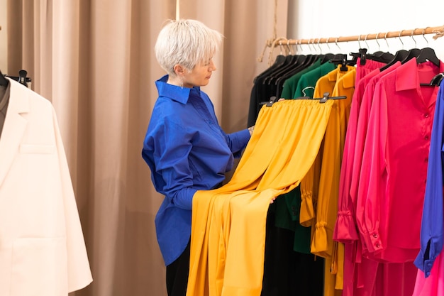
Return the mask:
[[9,79],[0,136],[0,296],[66,296],[92,281],[57,118]]

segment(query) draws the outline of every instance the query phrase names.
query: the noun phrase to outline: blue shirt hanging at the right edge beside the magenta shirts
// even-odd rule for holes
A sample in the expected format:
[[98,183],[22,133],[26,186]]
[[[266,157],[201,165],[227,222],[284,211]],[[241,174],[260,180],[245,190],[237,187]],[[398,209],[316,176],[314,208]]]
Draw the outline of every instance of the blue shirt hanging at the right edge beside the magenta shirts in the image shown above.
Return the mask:
[[443,101],[444,80],[440,84],[435,105],[421,221],[421,250],[415,260],[416,267],[423,270],[426,278],[431,274],[435,258],[443,249]]

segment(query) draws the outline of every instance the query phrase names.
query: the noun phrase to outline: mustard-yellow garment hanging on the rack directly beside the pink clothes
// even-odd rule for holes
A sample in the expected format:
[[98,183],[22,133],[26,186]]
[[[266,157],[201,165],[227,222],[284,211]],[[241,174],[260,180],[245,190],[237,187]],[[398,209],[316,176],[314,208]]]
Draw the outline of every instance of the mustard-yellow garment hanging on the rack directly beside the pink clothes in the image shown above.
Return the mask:
[[340,164],[355,87],[355,75],[355,67],[348,66],[347,71],[340,71],[338,66],[336,70],[318,80],[315,87],[315,96],[329,92],[331,97],[347,97],[334,101],[328,120],[318,182],[316,226],[311,241],[311,253],[326,258],[325,296],[341,295],[343,289],[344,246],[343,243],[333,241],[333,230],[338,215]]

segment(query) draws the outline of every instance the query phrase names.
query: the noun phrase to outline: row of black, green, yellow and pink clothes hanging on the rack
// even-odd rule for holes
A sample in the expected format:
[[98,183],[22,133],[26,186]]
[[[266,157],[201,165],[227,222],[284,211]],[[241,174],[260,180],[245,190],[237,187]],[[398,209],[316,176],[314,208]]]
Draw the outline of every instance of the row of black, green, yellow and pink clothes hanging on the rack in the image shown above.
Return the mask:
[[[426,225],[421,217],[443,62],[432,48],[371,54],[360,48],[350,56],[278,55],[255,78],[249,125],[255,123],[255,106],[272,96],[348,98],[333,102],[316,160],[299,186],[270,206],[267,236],[290,231],[283,241],[293,241],[296,253],[315,256],[297,267],[317,268],[311,275],[319,274],[323,258],[323,291],[297,295],[411,296],[424,286],[420,273],[430,271],[428,254],[419,271],[421,263],[414,260]],[[426,240],[421,251],[429,245]],[[265,263],[271,261],[267,256],[272,255],[265,253]],[[270,268],[265,264],[264,288],[278,283],[265,276]],[[295,268],[287,270],[297,274]],[[273,294],[262,290],[267,295]]]

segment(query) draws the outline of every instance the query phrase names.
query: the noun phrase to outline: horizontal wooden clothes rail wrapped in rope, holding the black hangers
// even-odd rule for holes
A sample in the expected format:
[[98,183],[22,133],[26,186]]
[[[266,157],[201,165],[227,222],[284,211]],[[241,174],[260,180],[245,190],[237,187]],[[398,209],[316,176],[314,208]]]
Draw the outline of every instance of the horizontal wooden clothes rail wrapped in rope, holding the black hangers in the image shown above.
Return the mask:
[[348,42],[348,41],[367,41],[367,40],[380,40],[387,38],[401,38],[404,36],[414,36],[414,35],[426,35],[426,34],[435,34],[433,39],[440,38],[444,35],[444,26],[436,26],[436,27],[427,27],[427,28],[414,28],[409,30],[401,30],[401,31],[389,31],[385,33],[370,33],[370,34],[362,34],[362,35],[353,35],[353,36],[340,36],[340,37],[328,37],[328,38],[311,38],[311,39],[287,39],[284,37],[269,39],[265,43],[265,48],[262,52],[262,55],[258,58],[259,62],[262,62],[263,55],[267,48],[271,48],[270,50],[270,62],[272,59],[272,52],[274,48],[278,45],[319,45],[321,43],[339,43],[339,42]]

